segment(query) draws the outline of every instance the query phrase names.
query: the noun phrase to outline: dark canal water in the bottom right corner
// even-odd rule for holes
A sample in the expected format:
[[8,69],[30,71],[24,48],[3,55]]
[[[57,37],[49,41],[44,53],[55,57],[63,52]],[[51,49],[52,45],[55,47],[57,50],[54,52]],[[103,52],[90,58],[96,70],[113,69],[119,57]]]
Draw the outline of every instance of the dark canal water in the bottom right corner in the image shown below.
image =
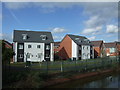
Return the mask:
[[120,88],[120,72],[74,80],[50,88]]

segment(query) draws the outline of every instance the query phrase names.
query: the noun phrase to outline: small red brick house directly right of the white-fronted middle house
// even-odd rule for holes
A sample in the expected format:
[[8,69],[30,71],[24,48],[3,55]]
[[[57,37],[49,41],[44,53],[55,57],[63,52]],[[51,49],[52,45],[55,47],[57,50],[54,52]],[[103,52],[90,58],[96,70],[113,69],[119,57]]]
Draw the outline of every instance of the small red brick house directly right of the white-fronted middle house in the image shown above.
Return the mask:
[[93,48],[94,48],[94,57],[103,57],[104,54],[104,43],[102,40],[100,41],[91,41],[91,43],[93,44]]

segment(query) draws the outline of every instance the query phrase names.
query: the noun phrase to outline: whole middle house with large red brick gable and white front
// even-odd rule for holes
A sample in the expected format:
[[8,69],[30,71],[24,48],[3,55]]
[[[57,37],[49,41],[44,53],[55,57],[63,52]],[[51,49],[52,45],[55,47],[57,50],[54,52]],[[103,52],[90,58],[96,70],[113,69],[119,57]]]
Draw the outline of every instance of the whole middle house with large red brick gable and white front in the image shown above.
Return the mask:
[[58,55],[64,60],[90,59],[94,58],[94,50],[86,37],[67,34],[59,44]]

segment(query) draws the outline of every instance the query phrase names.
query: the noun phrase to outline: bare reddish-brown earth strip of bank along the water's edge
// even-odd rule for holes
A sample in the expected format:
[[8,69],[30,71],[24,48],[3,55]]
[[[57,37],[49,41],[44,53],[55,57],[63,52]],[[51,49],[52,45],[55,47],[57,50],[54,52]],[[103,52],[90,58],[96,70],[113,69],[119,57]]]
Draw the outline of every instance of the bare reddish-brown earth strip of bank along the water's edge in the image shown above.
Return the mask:
[[76,75],[71,75],[71,77],[66,77],[66,78],[53,78],[47,80],[46,83],[44,83],[45,88],[51,88],[56,85],[64,84],[67,82],[72,82],[75,80],[89,80],[90,78],[93,77],[102,77],[102,76],[111,76],[114,73],[120,72],[120,66],[119,68],[111,68],[111,69],[105,69],[105,70],[97,70],[93,72],[85,72],[85,73],[76,73]]

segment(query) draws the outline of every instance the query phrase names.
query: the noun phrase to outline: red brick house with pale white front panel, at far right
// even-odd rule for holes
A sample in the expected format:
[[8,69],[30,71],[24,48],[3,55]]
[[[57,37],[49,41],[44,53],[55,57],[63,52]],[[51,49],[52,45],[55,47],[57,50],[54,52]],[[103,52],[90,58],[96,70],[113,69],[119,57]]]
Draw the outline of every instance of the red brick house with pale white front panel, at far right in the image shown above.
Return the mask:
[[120,44],[117,42],[105,43],[105,48],[107,56],[120,55]]

